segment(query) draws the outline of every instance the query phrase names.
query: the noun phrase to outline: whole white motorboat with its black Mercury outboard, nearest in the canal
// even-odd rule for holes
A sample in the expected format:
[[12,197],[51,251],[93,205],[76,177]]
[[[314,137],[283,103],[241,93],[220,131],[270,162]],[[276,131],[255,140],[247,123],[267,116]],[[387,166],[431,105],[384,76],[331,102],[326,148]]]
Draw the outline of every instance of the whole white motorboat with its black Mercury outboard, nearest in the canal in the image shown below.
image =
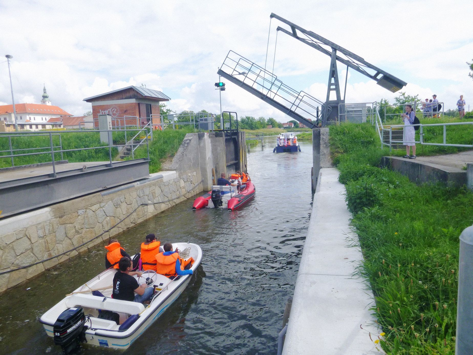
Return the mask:
[[[191,269],[195,273],[202,259],[201,248],[192,243],[173,243],[175,248],[179,248],[184,260],[193,257]],[[111,298],[115,272],[116,269],[105,270],[41,317],[47,335],[54,337],[54,343],[61,345],[66,354],[80,342],[127,349],[179,297],[192,277],[184,275],[171,280],[152,270],[144,271],[141,277],[134,276],[139,284],[146,281],[155,288],[151,302],[145,306]]]

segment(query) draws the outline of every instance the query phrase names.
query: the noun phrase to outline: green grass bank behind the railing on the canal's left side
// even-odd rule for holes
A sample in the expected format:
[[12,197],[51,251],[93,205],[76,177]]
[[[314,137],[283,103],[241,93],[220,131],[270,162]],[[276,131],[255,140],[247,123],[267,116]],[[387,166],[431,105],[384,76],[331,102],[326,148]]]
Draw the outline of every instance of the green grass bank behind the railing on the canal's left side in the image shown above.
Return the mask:
[[[153,132],[153,142],[149,146],[149,172],[154,173],[161,169],[161,163],[169,157],[173,157],[179,149],[184,136],[186,133],[193,132],[188,129],[179,130],[165,130]],[[41,131],[40,133],[44,133]],[[60,132],[54,132],[60,133]],[[21,134],[21,133],[20,133]],[[25,133],[24,135],[26,135]],[[62,140],[62,149],[77,149],[77,148],[91,148],[108,145],[100,142],[99,133],[87,132],[87,133],[60,133]],[[127,133],[127,139],[132,137],[133,133]],[[49,136],[35,136],[35,137],[13,137],[11,139],[13,149],[26,149],[26,148],[38,148],[38,147],[49,147]],[[113,133],[114,144],[124,144],[125,135],[123,132]],[[53,136],[53,144],[59,146],[59,136]],[[56,148],[59,149],[59,148]],[[7,138],[0,135],[0,151],[9,151],[9,141]],[[24,152],[44,152],[47,150],[31,150],[31,151],[16,151],[15,154],[21,154]],[[0,153],[1,155],[9,155],[9,152]],[[118,155],[118,150],[112,148],[112,158],[114,159]],[[135,151],[135,158],[144,158],[147,156],[146,147],[138,148]],[[64,160],[69,162],[85,162],[85,161],[107,161],[109,160],[108,148],[97,148],[90,150],[71,151],[63,153]],[[55,160],[61,160],[61,154],[54,154]],[[31,156],[15,157],[15,166],[36,164],[50,162],[51,154],[38,154]],[[0,159],[0,168],[10,167],[10,158]]]

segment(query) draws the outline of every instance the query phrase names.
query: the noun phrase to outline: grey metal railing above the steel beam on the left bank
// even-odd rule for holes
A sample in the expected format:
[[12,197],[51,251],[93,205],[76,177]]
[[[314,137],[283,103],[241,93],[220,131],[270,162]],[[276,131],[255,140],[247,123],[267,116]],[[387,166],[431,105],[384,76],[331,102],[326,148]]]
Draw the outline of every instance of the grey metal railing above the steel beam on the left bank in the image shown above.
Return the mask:
[[[125,128],[126,129],[126,128]],[[126,129],[127,131],[139,131],[138,134],[140,134],[142,131],[146,131],[146,137],[145,139],[142,139],[139,143],[135,143],[134,145],[136,146],[144,146],[146,144],[147,146],[147,158],[149,160],[149,140],[148,140],[148,130],[150,129],[150,126],[143,127],[141,129]],[[152,130],[151,130],[152,131]],[[106,149],[108,148],[108,155],[109,155],[109,160],[110,160],[110,167],[113,166],[113,157],[112,157],[112,148],[119,148],[119,147],[126,147],[129,144],[114,144],[113,143],[113,137],[112,134],[108,134],[108,145],[101,145],[101,146],[96,146],[96,147],[84,147],[84,148],[76,148],[76,149],[62,149],[62,137],[61,134],[64,133],[79,133],[79,134],[96,134],[100,132],[113,132],[111,130],[87,130],[87,131],[61,131],[61,133],[53,133],[53,132],[48,132],[48,133],[35,133],[35,132],[23,132],[23,133],[15,133],[15,134],[9,134],[9,133],[0,133],[0,140],[1,139],[8,139],[9,141],[9,150],[6,151],[0,151],[0,153],[6,153],[8,152],[9,154],[5,155],[0,155],[0,159],[7,159],[9,158],[12,161],[12,166],[14,166],[14,158],[18,157],[26,157],[26,156],[35,156],[35,155],[41,155],[41,154],[50,154],[51,155],[51,162],[53,165],[53,177],[56,177],[56,161],[55,161],[55,154],[60,153],[61,154],[61,160],[64,159],[63,153],[64,152],[70,152],[70,151],[86,151],[86,150],[94,150],[94,149]],[[59,135],[59,142],[60,145],[56,146],[53,143],[53,136]],[[33,136],[49,136],[49,146],[48,147],[40,147],[40,148],[22,148],[22,149],[14,149],[12,146],[11,138],[12,137],[22,137],[28,139],[29,137]],[[146,142],[145,142],[146,141]],[[57,149],[59,148],[59,149]],[[31,150],[47,150],[47,151],[36,151],[36,152],[26,152],[26,153],[19,153],[19,154],[14,154],[15,151],[31,151]],[[135,148],[136,149],[136,148]]]

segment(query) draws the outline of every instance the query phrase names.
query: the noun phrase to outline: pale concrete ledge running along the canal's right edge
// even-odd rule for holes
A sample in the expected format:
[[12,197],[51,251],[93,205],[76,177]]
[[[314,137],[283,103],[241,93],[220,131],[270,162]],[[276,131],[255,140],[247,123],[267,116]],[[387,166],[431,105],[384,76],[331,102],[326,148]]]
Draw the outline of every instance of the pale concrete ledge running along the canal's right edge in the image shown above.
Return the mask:
[[373,293],[351,276],[362,254],[350,248],[358,237],[338,175],[320,169],[282,354],[379,354],[369,338],[381,331],[369,311]]

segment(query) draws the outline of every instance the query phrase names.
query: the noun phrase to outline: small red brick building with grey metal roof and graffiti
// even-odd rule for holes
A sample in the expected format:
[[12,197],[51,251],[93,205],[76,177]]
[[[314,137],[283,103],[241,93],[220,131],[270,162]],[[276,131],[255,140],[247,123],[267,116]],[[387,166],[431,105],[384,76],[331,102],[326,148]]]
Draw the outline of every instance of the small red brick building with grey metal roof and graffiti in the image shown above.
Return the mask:
[[112,125],[136,125],[137,118],[141,126],[152,119],[153,124],[160,124],[159,103],[171,98],[158,90],[129,86],[105,94],[84,98],[92,104],[92,117],[98,126],[98,115],[111,115]]

